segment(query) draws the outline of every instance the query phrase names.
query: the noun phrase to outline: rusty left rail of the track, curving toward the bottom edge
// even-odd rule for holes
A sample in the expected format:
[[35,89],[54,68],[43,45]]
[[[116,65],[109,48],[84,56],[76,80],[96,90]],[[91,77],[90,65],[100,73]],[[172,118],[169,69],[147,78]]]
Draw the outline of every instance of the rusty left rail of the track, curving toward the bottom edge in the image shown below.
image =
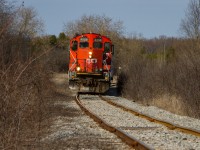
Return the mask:
[[153,148],[149,147],[142,141],[139,141],[138,139],[134,138],[133,136],[130,136],[126,134],[124,131],[122,131],[119,128],[116,128],[107,122],[105,122],[103,119],[98,117],[96,114],[88,110],[79,100],[79,95],[76,96],[76,103],[79,105],[81,110],[83,110],[88,116],[90,116],[95,122],[97,122],[102,128],[114,133],[116,136],[118,136],[122,141],[130,145],[136,150],[152,150]]

